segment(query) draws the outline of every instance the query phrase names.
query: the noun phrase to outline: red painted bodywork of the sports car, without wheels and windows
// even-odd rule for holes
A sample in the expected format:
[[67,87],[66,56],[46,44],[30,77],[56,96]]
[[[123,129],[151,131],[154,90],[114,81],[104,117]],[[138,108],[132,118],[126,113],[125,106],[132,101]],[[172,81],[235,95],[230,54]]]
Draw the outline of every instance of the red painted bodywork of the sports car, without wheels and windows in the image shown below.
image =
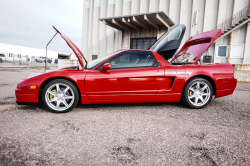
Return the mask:
[[[60,33],[58,30],[57,32]],[[194,54],[197,55],[195,58],[195,62],[197,62],[220,33],[219,30],[214,30],[192,36],[177,56]],[[84,56],[80,50],[65,35],[60,34],[72,48],[83,68],[82,58]],[[198,39],[207,37],[210,37],[209,42],[203,40],[201,45],[197,43]],[[195,44],[192,44],[193,41]],[[150,50],[143,51],[152,52],[159,66],[111,69],[104,72],[96,70],[110,58],[125,51],[136,50],[122,50],[92,69],[65,68],[24,79],[17,86],[16,101],[39,102],[38,96],[41,94],[42,88],[53,79],[67,79],[75,84],[79,90],[82,104],[179,102],[183,88],[193,77],[208,79],[214,85],[216,98],[232,94],[237,84],[231,64],[170,65],[161,55]],[[29,89],[31,85],[35,85],[37,88]]]

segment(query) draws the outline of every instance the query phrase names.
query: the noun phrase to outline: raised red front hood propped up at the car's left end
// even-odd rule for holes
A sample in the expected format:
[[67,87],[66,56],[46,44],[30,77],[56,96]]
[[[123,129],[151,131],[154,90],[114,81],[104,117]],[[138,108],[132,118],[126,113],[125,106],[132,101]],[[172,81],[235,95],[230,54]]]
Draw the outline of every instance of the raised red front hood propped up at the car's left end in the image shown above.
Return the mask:
[[82,54],[82,52],[78,49],[78,47],[63,33],[61,33],[58,29],[56,29],[54,26],[53,28],[61,35],[61,37],[66,41],[66,43],[69,45],[69,47],[73,50],[73,52],[75,53],[76,57],[79,60],[79,63],[82,67],[82,69],[84,69],[84,64],[83,64],[83,59],[86,63],[87,60],[85,59],[84,55]]

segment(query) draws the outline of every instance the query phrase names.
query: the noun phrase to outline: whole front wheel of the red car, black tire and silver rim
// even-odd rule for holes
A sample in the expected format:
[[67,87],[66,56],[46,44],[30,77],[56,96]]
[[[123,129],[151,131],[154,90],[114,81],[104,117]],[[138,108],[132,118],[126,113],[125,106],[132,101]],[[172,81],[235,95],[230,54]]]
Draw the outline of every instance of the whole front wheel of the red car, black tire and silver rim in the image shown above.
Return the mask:
[[42,91],[45,107],[55,113],[72,110],[78,103],[79,93],[74,84],[64,79],[49,82]]

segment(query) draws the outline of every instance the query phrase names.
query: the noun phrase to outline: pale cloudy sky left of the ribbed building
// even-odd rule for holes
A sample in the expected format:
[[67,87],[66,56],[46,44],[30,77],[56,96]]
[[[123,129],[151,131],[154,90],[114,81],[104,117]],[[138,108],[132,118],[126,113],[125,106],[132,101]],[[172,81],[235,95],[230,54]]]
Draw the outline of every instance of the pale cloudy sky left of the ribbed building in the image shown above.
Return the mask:
[[[1,0],[0,43],[45,49],[54,25],[81,50],[83,0]],[[72,52],[58,34],[48,50]]]

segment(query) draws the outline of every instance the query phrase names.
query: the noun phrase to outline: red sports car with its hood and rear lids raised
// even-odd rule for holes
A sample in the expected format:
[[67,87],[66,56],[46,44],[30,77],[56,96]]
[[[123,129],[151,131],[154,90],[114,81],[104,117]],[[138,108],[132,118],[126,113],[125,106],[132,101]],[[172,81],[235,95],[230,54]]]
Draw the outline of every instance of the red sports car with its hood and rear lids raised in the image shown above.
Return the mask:
[[[87,62],[63,33],[80,66],[33,74],[17,85],[18,104],[42,102],[52,112],[82,104],[182,102],[190,108],[207,106],[233,93],[237,80],[231,64],[200,64],[200,57],[221,30],[191,36],[177,52],[186,27],[177,25],[148,50],[119,50]],[[177,53],[176,53],[177,52]],[[84,62],[85,61],[85,62]]]

